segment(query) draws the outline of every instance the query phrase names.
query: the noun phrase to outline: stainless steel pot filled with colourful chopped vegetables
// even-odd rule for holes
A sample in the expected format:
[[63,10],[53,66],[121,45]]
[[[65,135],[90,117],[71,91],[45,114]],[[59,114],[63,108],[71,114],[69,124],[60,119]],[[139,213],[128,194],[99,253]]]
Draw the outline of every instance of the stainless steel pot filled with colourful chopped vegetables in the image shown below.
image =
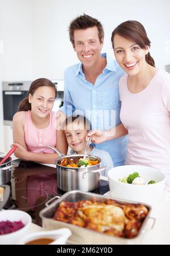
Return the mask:
[[83,158],[83,154],[73,154],[69,156],[64,156],[56,148],[49,146],[55,150],[59,158],[56,159],[57,167],[57,187],[62,191],[80,190],[83,192],[94,191],[99,187],[100,184],[100,171],[105,170],[105,168],[100,168],[101,159],[96,156],[87,155],[87,158],[92,160],[99,160],[99,163],[95,166],[84,167],[84,168],[74,168],[65,167],[59,165],[63,158]]

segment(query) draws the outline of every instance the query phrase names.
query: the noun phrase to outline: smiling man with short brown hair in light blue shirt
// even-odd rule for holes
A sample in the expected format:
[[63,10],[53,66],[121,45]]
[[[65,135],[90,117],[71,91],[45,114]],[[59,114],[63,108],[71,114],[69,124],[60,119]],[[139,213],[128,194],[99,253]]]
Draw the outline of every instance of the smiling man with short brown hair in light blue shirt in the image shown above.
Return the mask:
[[[61,111],[67,116],[84,114],[91,129],[109,129],[121,123],[118,81],[124,72],[101,49],[101,23],[86,14],[70,23],[70,41],[80,64],[65,70],[65,98]],[[127,138],[95,145],[111,154],[114,166],[124,165]]]

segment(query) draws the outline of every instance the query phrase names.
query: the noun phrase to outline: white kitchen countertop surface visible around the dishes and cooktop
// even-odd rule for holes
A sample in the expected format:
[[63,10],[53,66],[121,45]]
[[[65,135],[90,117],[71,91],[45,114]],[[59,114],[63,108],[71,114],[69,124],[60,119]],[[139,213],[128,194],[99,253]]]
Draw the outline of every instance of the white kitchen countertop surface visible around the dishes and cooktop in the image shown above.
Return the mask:
[[[12,157],[12,160],[16,159]],[[56,168],[56,165],[48,165]],[[101,179],[106,180],[107,177],[100,177]],[[110,196],[110,192],[105,194]],[[150,231],[145,233],[143,236],[142,242],[139,244],[143,245],[170,245],[170,191],[164,191],[163,200],[158,204],[152,205],[152,211],[150,217],[155,219],[155,224]],[[153,220],[149,219],[147,224],[147,229],[150,229],[153,224]],[[31,227],[28,230],[28,233],[34,233],[42,231],[43,229],[32,223]],[[102,244],[102,242],[101,242]]]

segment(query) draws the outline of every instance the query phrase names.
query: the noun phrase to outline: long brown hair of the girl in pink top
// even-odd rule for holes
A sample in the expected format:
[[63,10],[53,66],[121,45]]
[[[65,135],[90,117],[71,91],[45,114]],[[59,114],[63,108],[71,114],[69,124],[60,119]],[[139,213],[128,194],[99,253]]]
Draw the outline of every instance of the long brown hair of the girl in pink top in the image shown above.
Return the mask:
[[41,86],[48,86],[48,87],[54,88],[54,91],[56,93],[55,98],[57,97],[57,89],[56,89],[56,86],[54,85],[54,83],[52,83],[52,81],[50,81],[49,79],[46,79],[46,78],[36,79],[35,81],[33,81],[31,83],[31,86],[29,87],[27,97],[25,99],[23,99],[22,102],[19,103],[18,111],[31,110],[31,104],[29,103],[29,100],[28,100],[29,99],[29,94],[31,94],[33,96],[35,91]]

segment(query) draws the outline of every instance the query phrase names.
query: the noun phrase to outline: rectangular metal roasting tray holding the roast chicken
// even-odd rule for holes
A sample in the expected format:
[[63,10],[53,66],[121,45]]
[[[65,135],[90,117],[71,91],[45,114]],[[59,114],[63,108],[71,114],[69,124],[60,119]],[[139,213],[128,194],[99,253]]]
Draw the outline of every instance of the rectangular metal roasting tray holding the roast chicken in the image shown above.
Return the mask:
[[[57,200],[49,205],[49,202],[52,200]],[[120,238],[120,237],[113,237],[109,236],[108,234],[103,234],[94,230],[90,230],[87,228],[81,228],[79,226],[69,224],[69,223],[64,223],[62,221],[57,221],[54,220],[54,214],[59,207],[59,204],[62,201],[67,201],[67,202],[77,202],[79,200],[89,200],[92,198],[95,198],[95,200],[103,200],[103,199],[112,199],[116,200],[118,203],[130,203],[130,204],[139,204],[140,202],[132,202],[132,201],[126,201],[126,200],[120,200],[116,198],[111,198],[108,196],[103,196],[103,195],[97,195],[94,193],[90,192],[82,192],[82,191],[69,191],[63,196],[59,198],[59,196],[56,196],[56,198],[51,199],[47,204],[46,208],[42,209],[40,212],[40,217],[42,218],[42,226],[45,230],[53,230],[53,229],[59,229],[59,228],[69,228],[72,232],[72,236],[69,238],[68,243],[69,244],[87,244],[87,245],[99,245],[99,244],[139,244],[143,238],[143,234],[147,230],[145,230],[146,224],[148,219],[154,220],[155,219],[150,218],[150,212],[151,212],[151,206],[148,204],[146,207],[148,208],[148,215],[146,216],[145,221],[143,221],[143,224],[141,226],[141,229],[139,230],[138,236],[135,238]],[[142,203],[143,204],[143,203]]]

